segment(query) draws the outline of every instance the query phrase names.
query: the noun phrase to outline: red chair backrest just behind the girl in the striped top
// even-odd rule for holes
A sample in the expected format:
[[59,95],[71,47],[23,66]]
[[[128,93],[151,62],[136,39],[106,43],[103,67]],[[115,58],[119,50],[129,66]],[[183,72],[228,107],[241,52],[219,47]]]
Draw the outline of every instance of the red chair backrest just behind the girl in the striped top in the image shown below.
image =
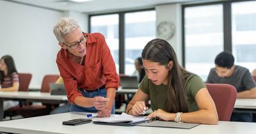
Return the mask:
[[19,79],[20,79],[20,84],[19,84],[19,91],[28,91],[29,83],[32,78],[31,73],[19,73]]

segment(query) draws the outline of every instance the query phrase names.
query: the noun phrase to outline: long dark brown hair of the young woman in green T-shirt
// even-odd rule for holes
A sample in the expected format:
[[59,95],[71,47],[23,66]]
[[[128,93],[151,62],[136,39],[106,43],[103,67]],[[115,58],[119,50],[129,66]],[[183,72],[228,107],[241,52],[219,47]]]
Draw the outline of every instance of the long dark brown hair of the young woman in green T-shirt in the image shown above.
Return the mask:
[[168,63],[173,61],[172,70],[168,73],[168,100],[165,102],[164,110],[174,113],[188,112],[184,78],[189,75],[189,72],[180,67],[170,43],[159,38],[151,40],[143,49],[141,57],[165,65],[166,68],[169,68]]

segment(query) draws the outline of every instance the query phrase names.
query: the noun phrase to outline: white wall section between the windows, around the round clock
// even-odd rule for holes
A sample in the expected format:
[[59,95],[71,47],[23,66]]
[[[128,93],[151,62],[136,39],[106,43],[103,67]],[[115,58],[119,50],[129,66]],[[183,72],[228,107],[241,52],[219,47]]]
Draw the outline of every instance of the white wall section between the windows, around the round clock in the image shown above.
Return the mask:
[[180,65],[182,64],[182,9],[181,4],[166,4],[156,6],[156,24],[164,21],[175,25],[175,33],[168,42],[176,52]]

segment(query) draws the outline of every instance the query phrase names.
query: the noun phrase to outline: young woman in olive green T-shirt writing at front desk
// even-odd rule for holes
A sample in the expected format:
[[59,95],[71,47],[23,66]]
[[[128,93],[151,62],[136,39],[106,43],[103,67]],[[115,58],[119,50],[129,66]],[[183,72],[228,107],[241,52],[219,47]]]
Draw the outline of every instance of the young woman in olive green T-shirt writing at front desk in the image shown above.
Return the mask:
[[154,111],[148,117],[164,121],[217,124],[214,101],[204,82],[180,67],[172,46],[165,40],[149,41],[141,54],[147,77],[127,105],[131,115],[145,114],[145,101]]

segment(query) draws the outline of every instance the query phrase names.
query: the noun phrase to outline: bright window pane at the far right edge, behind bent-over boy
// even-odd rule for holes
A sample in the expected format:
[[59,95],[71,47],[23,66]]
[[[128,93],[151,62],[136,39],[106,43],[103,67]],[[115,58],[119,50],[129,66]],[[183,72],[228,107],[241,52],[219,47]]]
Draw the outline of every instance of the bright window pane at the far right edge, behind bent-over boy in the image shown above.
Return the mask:
[[237,65],[256,68],[256,1],[232,3],[232,54]]

